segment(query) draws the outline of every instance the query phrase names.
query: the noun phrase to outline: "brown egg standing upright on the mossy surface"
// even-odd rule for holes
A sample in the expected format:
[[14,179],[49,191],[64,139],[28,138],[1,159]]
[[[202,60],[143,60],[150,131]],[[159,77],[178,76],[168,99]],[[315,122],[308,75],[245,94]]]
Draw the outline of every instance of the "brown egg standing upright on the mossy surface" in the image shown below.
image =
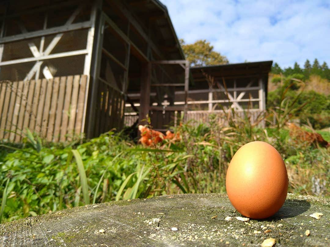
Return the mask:
[[265,142],[250,142],[233,156],[226,175],[226,190],[238,212],[264,219],[283,205],[288,176],[280,153]]

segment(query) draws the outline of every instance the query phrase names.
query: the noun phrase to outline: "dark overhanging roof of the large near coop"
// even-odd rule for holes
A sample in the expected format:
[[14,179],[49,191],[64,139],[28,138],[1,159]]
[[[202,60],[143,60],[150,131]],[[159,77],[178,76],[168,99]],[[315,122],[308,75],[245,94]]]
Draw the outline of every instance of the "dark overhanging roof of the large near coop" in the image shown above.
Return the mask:
[[[22,0],[5,0],[0,1],[0,16],[4,14],[4,10],[6,9],[5,3],[7,2],[10,3],[7,12],[7,16],[9,17],[19,16],[25,13],[37,12],[37,9],[44,9],[44,11],[47,11],[47,9],[54,9],[54,7],[56,8],[56,5],[62,6],[62,10],[65,10],[65,8],[68,8],[71,5],[76,6],[78,2],[88,3],[91,1],[36,0],[26,4],[26,2]],[[117,5],[117,7],[121,6],[122,8],[113,8],[113,3],[116,3],[115,5]],[[168,10],[166,6],[162,4],[159,0],[104,0],[103,7],[106,8],[107,5],[108,7],[112,6],[111,8],[113,8],[112,13],[114,13],[113,17],[115,18],[115,22],[117,17],[120,21],[119,16],[125,15],[124,13],[125,11],[127,11],[126,13],[129,13],[138,23],[138,25],[141,26],[141,30],[143,30],[144,34],[146,34],[147,36],[149,35],[150,40],[154,43],[154,45],[159,51],[158,55],[162,55],[162,57],[154,56],[154,60],[184,59],[184,54],[180,46],[177,34],[174,30]],[[121,13],[116,13],[120,11]],[[111,15],[110,12],[107,14]],[[120,23],[116,24],[119,25],[119,28],[122,29],[122,31],[125,31],[126,27],[120,26]],[[140,38],[139,42],[143,43],[144,39]]]

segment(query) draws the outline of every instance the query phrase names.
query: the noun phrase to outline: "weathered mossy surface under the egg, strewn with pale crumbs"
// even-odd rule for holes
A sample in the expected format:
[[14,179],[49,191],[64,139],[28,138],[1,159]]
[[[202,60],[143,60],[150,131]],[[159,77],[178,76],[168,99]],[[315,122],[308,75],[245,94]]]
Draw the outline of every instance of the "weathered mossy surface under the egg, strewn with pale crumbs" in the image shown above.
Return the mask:
[[[0,246],[260,246],[270,237],[276,246],[329,246],[329,205],[289,194],[274,216],[242,222],[226,194],[110,202],[2,224]],[[309,216],[315,212],[323,216]]]

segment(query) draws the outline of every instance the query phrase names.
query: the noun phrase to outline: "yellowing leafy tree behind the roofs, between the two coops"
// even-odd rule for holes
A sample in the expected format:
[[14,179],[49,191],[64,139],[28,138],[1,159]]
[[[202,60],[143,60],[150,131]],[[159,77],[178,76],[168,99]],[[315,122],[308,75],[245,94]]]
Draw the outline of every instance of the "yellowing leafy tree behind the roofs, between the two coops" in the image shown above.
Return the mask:
[[193,44],[186,44],[181,39],[180,44],[191,67],[228,64],[228,59],[219,52],[214,51],[213,45],[206,40],[198,40]]

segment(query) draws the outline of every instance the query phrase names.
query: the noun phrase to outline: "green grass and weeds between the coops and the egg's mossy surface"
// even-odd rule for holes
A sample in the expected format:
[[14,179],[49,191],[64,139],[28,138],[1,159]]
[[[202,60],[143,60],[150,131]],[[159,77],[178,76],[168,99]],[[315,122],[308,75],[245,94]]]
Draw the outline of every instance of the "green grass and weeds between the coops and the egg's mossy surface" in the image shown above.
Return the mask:
[[66,145],[46,143],[32,134],[20,145],[2,144],[0,219],[6,222],[90,202],[225,192],[232,156],[254,140],[268,142],[281,153],[289,192],[315,194],[313,178],[326,181],[319,195],[330,195],[330,156],[325,148],[297,143],[286,128],[262,129],[246,119],[226,128],[216,123],[213,116],[209,125],[183,124],[178,129],[180,142],[164,140],[155,148],[136,145],[114,132]]

